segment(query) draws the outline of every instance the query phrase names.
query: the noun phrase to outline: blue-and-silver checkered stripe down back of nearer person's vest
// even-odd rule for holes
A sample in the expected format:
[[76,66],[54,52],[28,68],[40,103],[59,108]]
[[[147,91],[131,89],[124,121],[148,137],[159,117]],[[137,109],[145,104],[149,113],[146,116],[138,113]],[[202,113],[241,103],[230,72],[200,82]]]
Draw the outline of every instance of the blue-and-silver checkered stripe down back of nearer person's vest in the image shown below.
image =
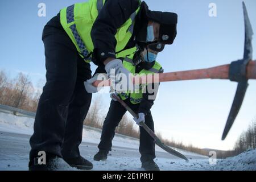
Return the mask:
[[[68,23],[74,22],[74,7],[75,5],[72,5],[67,8]],[[70,26],[69,28],[71,29],[73,36],[76,39],[76,43],[79,46],[82,56],[86,57],[86,60],[91,60],[91,57],[87,57],[89,55],[89,52],[87,51],[85,44],[82,41],[81,36],[79,35],[79,32],[77,32],[76,24],[72,24],[72,26]]]

